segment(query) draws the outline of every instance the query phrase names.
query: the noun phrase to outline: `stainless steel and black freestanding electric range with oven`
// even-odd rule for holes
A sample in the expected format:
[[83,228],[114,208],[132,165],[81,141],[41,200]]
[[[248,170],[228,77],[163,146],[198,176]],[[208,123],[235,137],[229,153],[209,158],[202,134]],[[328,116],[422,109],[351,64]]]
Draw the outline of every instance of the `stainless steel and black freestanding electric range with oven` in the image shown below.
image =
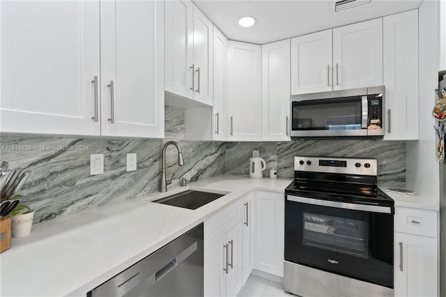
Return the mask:
[[393,296],[394,201],[376,159],[295,157],[285,190],[284,289]]

